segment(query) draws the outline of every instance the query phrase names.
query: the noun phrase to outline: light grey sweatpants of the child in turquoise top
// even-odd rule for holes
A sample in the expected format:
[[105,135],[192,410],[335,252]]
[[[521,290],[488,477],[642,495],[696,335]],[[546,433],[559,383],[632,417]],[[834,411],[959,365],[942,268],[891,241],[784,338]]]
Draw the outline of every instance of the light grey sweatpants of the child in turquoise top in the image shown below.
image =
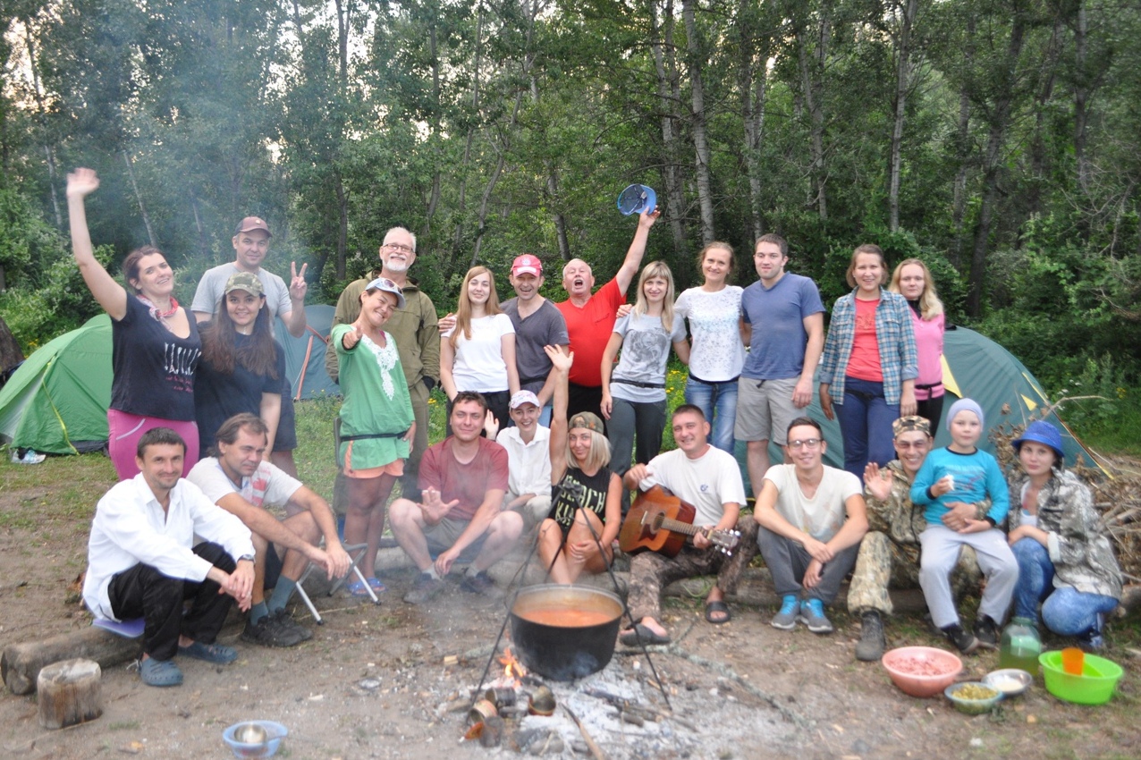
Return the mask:
[[957,533],[945,525],[928,525],[920,534],[923,547],[920,556],[920,587],[926,599],[931,620],[938,628],[958,622],[955,597],[950,592],[950,572],[958,561],[963,544],[974,549],[979,568],[987,577],[982,590],[979,615],[987,615],[1002,623],[1010,608],[1010,600],[1018,583],[1018,560],[1006,543],[1006,534],[998,528],[982,533]]

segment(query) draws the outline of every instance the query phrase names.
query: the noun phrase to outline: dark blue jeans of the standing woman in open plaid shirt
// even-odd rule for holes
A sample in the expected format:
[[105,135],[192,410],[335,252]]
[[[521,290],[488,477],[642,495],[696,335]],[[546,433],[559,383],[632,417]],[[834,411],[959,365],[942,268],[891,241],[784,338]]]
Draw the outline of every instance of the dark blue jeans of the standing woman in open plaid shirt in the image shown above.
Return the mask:
[[864,478],[868,462],[883,467],[896,458],[891,423],[899,419],[899,404],[883,397],[883,383],[844,378],[843,398],[833,409],[844,439],[844,469]]

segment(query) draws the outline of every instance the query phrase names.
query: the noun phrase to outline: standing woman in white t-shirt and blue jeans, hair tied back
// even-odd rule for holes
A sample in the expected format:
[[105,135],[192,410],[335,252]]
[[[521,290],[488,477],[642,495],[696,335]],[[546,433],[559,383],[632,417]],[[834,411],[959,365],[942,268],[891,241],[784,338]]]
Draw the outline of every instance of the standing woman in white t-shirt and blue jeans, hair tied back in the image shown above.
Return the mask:
[[741,293],[727,283],[735,259],[728,243],[712,242],[702,249],[697,266],[705,277],[698,288],[678,297],[673,312],[689,321],[689,377],[686,403],[702,410],[713,428],[710,443],[734,453],[733,425],[737,419],[737,379],[745,365],[741,340]]

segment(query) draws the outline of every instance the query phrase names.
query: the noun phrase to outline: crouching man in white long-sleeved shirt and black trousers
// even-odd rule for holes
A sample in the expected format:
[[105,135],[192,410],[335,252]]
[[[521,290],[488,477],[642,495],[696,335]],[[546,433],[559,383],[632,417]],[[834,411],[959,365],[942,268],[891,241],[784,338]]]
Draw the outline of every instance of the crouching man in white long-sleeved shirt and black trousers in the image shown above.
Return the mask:
[[183,682],[176,654],[234,662],[237,653],[215,639],[235,599],[250,608],[250,532],[180,477],[185,458],[186,442],[170,428],[144,434],[139,474],[99,500],[87,544],[83,601],[103,620],[145,618],[139,677],[147,686]]

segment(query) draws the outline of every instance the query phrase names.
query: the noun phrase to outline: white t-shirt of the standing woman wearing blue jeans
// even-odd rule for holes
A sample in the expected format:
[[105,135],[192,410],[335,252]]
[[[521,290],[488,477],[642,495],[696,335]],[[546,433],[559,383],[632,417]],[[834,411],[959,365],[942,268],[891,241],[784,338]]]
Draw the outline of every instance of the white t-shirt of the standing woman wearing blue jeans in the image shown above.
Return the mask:
[[690,288],[678,297],[673,312],[689,320],[689,373],[694,378],[725,382],[741,374],[745,365],[738,328],[741,293],[737,285],[726,285],[715,293]]

